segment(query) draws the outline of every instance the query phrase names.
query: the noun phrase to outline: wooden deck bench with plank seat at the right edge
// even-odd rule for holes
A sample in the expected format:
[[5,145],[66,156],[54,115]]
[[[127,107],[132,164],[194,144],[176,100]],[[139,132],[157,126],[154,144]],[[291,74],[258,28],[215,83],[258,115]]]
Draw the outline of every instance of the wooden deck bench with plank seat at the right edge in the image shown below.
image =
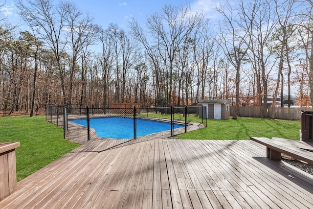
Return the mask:
[[250,137],[267,147],[267,158],[281,160],[281,153],[313,165],[313,142],[281,138]]

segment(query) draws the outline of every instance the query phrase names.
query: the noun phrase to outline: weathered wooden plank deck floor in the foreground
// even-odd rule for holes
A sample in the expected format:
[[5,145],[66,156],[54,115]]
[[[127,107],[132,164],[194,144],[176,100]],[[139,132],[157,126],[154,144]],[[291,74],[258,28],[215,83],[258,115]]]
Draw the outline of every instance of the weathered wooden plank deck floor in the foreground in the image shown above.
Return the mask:
[[19,182],[14,208],[312,209],[313,176],[250,140],[93,140]]

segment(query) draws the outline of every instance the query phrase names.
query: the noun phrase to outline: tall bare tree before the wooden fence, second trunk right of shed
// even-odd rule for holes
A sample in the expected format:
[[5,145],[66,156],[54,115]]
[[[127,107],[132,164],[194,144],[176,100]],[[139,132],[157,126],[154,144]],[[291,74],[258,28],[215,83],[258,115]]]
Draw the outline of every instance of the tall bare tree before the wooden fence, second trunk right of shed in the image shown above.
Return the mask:
[[273,58],[274,44],[270,39],[277,24],[276,13],[272,12],[273,9],[273,3],[269,0],[254,0],[247,7],[241,7],[241,17],[247,20],[250,28],[248,30],[250,40],[248,46],[249,52],[251,52],[249,53],[251,65],[257,79],[261,117],[268,116],[268,82],[270,73],[275,66],[275,59],[271,59]]

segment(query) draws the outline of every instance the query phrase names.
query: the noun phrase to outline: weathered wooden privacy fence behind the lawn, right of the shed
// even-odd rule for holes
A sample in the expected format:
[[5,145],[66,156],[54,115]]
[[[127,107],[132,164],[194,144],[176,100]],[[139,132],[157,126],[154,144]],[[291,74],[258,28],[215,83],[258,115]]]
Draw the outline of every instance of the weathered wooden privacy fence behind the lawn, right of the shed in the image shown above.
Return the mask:
[[[312,108],[303,108],[305,111],[313,111]],[[272,107],[268,107],[263,112],[264,117],[271,115]],[[230,107],[230,116],[234,116],[235,106]],[[261,117],[260,107],[239,107],[239,116],[242,117]],[[301,120],[301,109],[300,108],[286,108],[286,107],[275,107],[274,118],[284,120]]]

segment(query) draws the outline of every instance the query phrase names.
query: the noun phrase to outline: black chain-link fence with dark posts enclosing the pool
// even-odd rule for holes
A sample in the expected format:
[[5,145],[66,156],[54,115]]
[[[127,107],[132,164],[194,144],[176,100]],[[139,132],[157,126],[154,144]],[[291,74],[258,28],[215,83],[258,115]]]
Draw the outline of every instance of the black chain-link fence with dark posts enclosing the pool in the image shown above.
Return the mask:
[[[65,139],[84,143],[99,138],[173,137],[187,130],[199,129],[199,126],[206,127],[206,116],[200,118],[199,112],[206,113],[205,107],[79,108],[47,105],[46,121],[63,127]],[[156,121],[167,126],[167,130],[155,131]],[[148,129],[153,133],[146,132]]]

